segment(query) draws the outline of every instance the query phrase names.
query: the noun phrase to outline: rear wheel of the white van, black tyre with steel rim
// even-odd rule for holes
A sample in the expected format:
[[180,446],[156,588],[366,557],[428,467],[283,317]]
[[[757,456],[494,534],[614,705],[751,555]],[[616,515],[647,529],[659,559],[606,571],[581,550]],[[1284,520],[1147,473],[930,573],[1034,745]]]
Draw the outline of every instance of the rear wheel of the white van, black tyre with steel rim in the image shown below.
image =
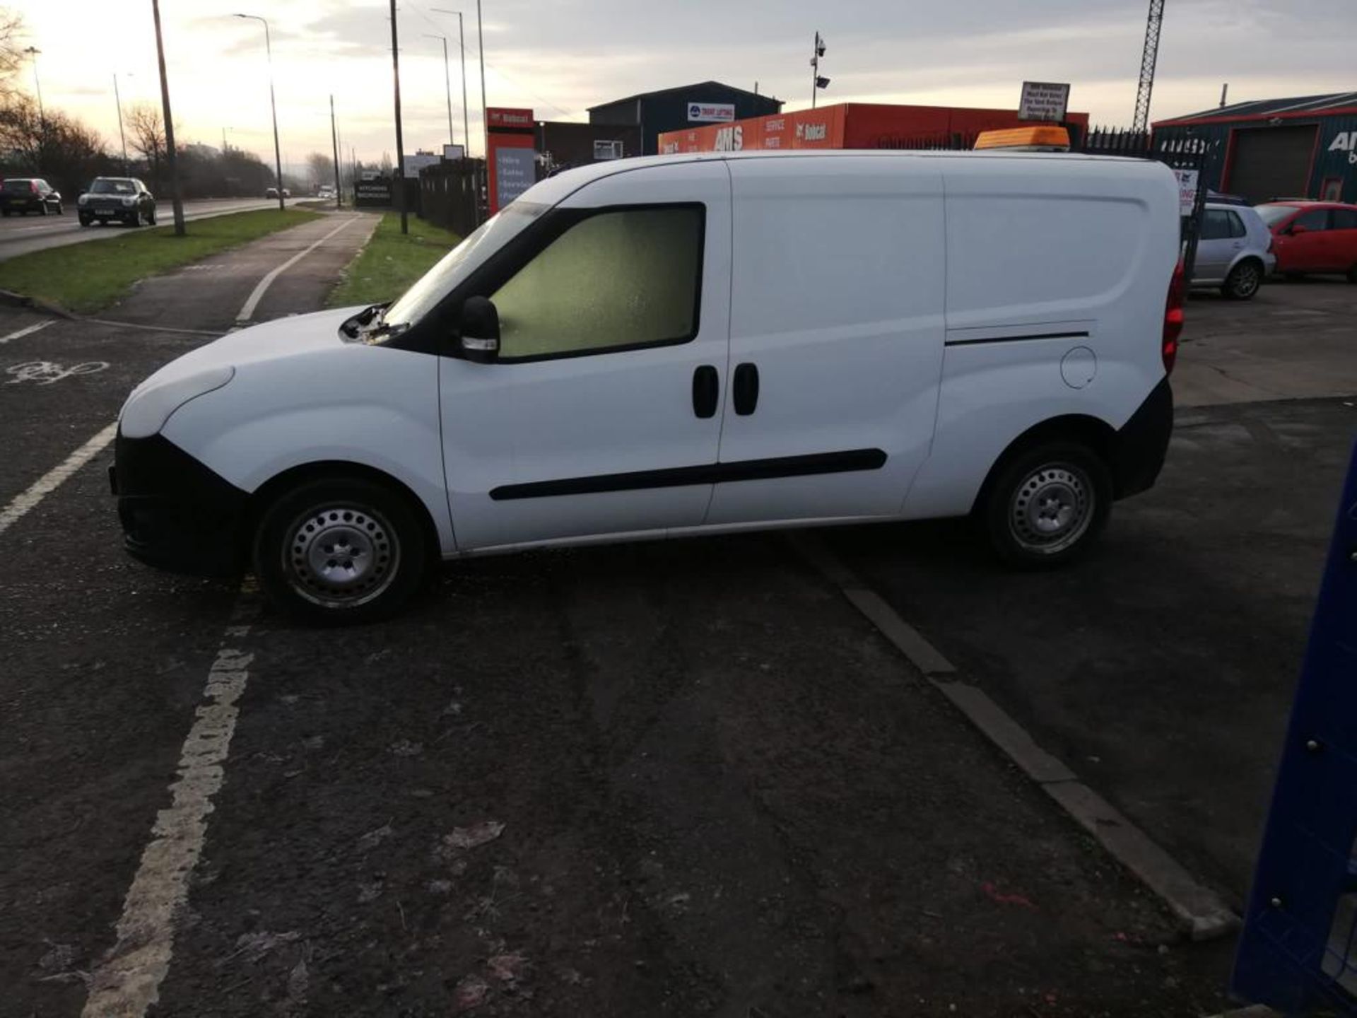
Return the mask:
[[995,552],[1011,566],[1069,562],[1107,523],[1111,476],[1087,445],[1045,442],[996,470],[985,486],[981,521]]

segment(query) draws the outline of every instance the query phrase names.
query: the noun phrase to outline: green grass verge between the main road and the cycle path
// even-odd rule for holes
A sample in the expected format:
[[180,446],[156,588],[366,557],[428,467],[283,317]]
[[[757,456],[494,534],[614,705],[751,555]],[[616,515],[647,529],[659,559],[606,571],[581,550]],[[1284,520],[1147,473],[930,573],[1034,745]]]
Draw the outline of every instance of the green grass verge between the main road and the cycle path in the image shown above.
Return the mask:
[[[160,209],[163,217],[168,209]],[[38,297],[68,311],[98,311],[128,295],[137,280],[168,271],[208,255],[239,247],[267,233],[319,219],[315,212],[236,212],[187,224],[187,236],[174,227],[117,229],[118,236],[66,244],[0,262],[0,289]]]

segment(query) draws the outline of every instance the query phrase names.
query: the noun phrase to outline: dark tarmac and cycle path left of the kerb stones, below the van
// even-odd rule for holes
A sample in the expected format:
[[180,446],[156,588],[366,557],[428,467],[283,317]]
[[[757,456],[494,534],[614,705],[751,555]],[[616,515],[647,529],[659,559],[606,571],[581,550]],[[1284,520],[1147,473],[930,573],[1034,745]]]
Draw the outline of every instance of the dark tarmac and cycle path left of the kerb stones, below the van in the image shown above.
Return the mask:
[[[106,312],[141,327],[0,345],[5,373],[53,365],[0,381],[0,504],[206,339],[145,324],[228,327],[345,219]],[[256,318],[316,308],[370,225]],[[39,320],[0,309],[0,337]],[[1181,943],[779,536],[459,563],[389,624],[299,630],[248,588],[126,559],[106,461],[0,532],[5,1018],[106,988],[224,658],[248,680],[157,1017],[1219,1010],[1228,947]],[[133,927],[117,957],[145,943]]]

